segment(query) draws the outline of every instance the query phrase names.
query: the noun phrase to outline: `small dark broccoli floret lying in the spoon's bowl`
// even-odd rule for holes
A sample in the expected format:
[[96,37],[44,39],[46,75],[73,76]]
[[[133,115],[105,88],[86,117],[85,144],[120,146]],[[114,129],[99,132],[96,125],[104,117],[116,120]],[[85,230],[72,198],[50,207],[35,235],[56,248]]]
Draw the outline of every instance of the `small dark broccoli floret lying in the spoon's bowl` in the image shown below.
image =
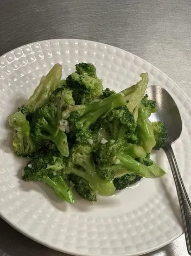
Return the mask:
[[152,122],[151,124],[153,127],[154,138],[156,141],[154,149],[159,150],[160,148],[164,148],[166,144],[168,144],[168,130],[165,123],[157,121]]

